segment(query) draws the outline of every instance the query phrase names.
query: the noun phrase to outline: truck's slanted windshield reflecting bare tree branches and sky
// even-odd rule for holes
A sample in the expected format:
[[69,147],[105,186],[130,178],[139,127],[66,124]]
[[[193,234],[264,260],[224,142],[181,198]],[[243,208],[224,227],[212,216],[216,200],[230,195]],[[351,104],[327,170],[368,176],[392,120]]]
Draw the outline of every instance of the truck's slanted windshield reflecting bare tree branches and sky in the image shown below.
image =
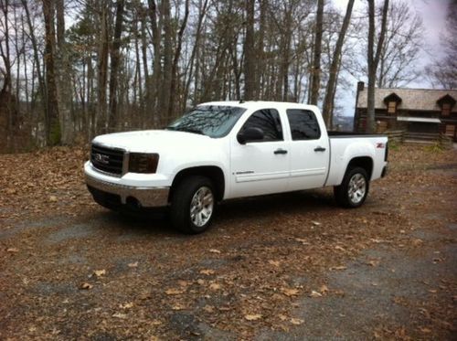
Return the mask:
[[165,129],[188,133],[201,133],[209,137],[223,137],[246,109],[220,105],[200,105]]

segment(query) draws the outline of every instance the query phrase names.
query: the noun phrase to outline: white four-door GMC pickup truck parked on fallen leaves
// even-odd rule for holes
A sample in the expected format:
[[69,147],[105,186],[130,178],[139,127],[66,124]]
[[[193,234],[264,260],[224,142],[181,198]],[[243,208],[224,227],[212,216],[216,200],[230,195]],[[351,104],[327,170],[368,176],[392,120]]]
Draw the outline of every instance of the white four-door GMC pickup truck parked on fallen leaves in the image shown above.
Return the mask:
[[167,207],[176,228],[199,233],[237,197],[334,186],[339,204],[359,207],[387,165],[386,136],[327,133],[315,106],[217,101],[165,130],[97,136],[84,171],[101,206]]

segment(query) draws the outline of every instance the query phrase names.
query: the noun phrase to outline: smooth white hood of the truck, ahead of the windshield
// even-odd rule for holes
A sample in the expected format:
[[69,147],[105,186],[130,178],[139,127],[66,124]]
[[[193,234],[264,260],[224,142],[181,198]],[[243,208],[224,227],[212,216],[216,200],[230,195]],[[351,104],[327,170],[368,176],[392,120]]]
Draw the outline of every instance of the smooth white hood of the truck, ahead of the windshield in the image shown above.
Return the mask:
[[167,130],[148,130],[127,133],[109,133],[97,136],[93,143],[117,147],[136,153],[160,153],[174,149],[207,147],[213,141],[209,136]]

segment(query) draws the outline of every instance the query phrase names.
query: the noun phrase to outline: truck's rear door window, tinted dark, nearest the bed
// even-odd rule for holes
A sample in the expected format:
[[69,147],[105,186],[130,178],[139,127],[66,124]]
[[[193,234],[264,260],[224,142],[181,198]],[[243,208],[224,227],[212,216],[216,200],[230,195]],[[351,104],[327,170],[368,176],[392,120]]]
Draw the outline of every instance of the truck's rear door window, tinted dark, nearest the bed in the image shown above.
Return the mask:
[[287,110],[287,118],[291,125],[292,140],[317,140],[321,137],[321,129],[314,112],[289,109]]

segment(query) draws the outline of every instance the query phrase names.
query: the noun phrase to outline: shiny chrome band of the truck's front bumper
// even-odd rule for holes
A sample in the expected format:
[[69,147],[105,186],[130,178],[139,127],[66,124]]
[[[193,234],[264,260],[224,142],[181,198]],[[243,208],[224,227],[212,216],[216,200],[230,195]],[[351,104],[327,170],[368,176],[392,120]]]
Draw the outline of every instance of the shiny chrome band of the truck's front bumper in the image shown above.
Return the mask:
[[169,187],[134,187],[112,184],[86,174],[87,186],[121,197],[121,203],[127,204],[127,198],[135,198],[143,208],[160,208],[168,205]]

